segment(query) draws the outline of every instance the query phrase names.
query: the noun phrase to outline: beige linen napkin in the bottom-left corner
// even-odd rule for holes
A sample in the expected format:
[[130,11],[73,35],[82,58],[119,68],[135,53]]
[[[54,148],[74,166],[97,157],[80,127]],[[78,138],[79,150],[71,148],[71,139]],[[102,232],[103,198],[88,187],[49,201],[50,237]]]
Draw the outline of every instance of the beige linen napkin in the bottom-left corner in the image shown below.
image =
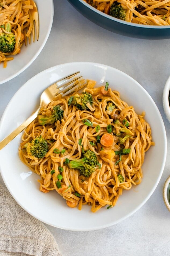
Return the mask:
[[62,256],[50,231],[0,184],[0,256]]

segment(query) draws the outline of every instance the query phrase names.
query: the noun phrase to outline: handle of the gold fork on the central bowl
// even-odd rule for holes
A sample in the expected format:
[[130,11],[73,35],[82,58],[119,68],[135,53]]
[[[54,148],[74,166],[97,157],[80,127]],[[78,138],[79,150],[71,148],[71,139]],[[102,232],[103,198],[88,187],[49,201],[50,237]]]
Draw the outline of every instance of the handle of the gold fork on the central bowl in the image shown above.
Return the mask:
[[10,133],[5,139],[0,142],[0,150],[5,147],[11,140],[13,140],[20,132],[22,132],[38,115],[39,109],[37,109],[24,123],[17,127],[12,133]]

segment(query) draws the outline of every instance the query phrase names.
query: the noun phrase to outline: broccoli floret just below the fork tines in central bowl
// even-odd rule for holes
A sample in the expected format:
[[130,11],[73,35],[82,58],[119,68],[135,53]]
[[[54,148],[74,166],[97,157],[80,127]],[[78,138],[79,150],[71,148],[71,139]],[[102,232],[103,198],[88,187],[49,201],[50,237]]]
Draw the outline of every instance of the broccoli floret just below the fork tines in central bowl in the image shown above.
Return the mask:
[[91,106],[93,104],[92,95],[88,92],[82,92],[82,94],[75,94],[73,100],[71,101],[72,105],[75,105],[77,109],[80,110],[89,110],[87,103]]

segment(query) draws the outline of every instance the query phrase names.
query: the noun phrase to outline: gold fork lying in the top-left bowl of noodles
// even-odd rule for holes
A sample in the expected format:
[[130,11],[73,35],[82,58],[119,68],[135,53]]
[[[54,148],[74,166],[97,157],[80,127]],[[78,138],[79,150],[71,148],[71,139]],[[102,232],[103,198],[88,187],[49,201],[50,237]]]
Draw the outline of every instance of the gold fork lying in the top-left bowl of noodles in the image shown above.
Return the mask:
[[[38,16],[38,9],[37,5],[33,0],[30,0],[30,5],[33,6],[32,9],[29,9],[29,14],[30,14],[30,19],[33,20],[33,28],[32,28],[32,41],[35,41],[35,31],[36,31],[36,38],[38,41],[39,38],[39,16]],[[25,45],[27,46],[27,38],[28,38],[28,43],[31,43],[31,35],[27,35],[27,28],[24,29],[24,37],[25,37]]]

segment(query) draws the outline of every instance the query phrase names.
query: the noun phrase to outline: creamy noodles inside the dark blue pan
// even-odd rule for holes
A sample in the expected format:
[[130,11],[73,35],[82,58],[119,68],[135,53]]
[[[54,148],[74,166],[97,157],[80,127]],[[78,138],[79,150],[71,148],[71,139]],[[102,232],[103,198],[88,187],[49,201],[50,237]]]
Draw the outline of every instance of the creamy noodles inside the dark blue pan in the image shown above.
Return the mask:
[[170,25],[169,0],[84,0],[97,10],[110,15],[114,2],[126,10],[125,21],[143,25]]

